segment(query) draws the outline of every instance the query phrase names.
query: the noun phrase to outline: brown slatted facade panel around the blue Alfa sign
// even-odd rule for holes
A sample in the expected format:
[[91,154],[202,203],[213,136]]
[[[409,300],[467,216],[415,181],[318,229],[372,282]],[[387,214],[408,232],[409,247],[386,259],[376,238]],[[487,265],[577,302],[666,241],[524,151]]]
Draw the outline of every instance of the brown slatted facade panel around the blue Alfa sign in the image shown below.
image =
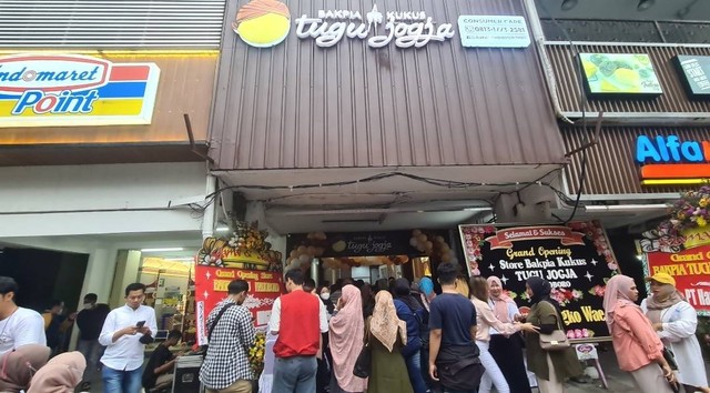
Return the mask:
[[[585,145],[592,130],[562,127],[562,140],[568,151]],[[587,149],[587,178],[584,194],[643,194],[679,192],[688,187],[641,185],[640,164],[635,160],[639,135],[678,135],[682,141],[710,140],[710,128],[703,127],[613,127],[602,128],[598,144]],[[570,190],[579,187],[581,153],[572,155],[566,177]],[[692,188],[692,187],[690,187]]]

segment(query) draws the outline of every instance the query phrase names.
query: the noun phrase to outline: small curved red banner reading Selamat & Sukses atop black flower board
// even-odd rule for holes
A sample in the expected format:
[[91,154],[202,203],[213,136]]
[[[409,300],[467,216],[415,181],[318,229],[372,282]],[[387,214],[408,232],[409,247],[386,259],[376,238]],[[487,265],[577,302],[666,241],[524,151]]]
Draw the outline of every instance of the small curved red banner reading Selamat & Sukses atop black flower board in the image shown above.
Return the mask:
[[559,239],[562,245],[584,245],[584,233],[574,232],[568,226],[517,226],[496,231],[495,236],[486,238],[490,249],[510,249],[513,242],[524,240],[550,240]]

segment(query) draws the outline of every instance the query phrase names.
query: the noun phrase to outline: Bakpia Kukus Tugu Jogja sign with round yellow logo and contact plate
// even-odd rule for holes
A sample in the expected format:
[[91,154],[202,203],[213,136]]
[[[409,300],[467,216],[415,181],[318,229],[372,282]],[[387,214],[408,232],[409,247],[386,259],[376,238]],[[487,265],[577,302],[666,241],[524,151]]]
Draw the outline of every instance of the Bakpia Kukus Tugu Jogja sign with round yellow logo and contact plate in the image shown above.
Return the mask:
[[[464,47],[524,48],[530,43],[523,17],[460,16],[458,22],[459,28],[467,31],[462,36]],[[246,44],[270,48],[286,39],[291,24],[292,11],[285,3],[252,0],[240,8],[232,29]],[[301,12],[293,24],[296,37],[312,39],[321,48],[333,47],[345,39],[364,40],[369,48],[389,44],[423,48],[430,42],[450,40],[456,34],[453,23],[435,21],[423,10],[385,10],[377,3],[364,10],[321,9]]]

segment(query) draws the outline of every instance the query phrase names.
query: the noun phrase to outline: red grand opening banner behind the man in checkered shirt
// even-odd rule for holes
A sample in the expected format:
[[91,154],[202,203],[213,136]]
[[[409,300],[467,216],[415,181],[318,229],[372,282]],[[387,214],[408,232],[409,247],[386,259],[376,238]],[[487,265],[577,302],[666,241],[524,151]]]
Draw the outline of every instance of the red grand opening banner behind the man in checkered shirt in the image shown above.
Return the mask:
[[195,300],[197,343],[206,344],[205,323],[214,306],[227,295],[227,285],[232,280],[248,282],[248,298],[244,301],[254,316],[256,328],[266,326],[271,318],[271,309],[283,292],[281,273],[196,265]]

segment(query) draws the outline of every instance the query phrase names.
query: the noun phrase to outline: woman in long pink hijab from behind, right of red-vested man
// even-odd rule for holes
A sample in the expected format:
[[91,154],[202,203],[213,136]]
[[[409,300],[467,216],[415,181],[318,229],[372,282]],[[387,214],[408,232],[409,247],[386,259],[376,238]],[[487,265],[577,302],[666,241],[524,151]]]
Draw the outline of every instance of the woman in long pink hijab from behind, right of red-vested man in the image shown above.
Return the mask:
[[343,286],[335,316],[331,319],[328,337],[333,356],[331,393],[364,392],[367,380],[353,374],[356,355],[363,350],[365,322],[359,290],[355,285]]

